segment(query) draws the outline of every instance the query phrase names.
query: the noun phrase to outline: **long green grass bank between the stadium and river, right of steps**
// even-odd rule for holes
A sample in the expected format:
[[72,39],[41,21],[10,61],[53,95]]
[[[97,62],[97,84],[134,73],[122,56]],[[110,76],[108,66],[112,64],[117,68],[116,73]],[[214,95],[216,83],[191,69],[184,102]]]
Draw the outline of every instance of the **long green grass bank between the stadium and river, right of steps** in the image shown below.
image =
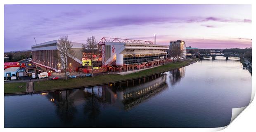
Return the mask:
[[[194,59],[197,60],[197,59]],[[104,83],[118,82],[123,80],[130,80],[134,78],[140,78],[147,75],[152,75],[156,73],[162,73],[170,71],[175,68],[180,68],[187,66],[192,60],[179,61],[175,63],[165,64],[163,66],[158,66],[150,68],[143,71],[138,71],[135,73],[130,73],[127,75],[111,74],[111,75],[100,75],[95,76],[94,78],[75,78],[68,80],[46,80],[35,82],[35,91],[46,91],[46,90],[59,90],[71,87],[86,87],[90,85],[101,85]]]

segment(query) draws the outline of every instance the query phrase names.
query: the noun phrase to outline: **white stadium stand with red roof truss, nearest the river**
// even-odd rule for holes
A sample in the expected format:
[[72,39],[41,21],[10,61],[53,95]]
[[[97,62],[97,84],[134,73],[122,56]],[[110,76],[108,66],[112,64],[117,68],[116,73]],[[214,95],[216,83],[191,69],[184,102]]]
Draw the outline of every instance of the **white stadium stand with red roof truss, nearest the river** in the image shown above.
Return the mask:
[[164,64],[168,45],[154,45],[151,41],[102,38],[98,44],[102,67],[107,71],[133,71]]

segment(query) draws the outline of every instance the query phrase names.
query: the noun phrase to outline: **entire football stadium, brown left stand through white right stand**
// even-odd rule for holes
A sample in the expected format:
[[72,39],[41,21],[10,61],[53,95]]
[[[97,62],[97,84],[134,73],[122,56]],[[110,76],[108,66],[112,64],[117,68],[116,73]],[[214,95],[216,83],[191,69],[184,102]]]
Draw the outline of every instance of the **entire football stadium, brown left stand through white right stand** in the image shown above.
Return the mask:
[[[60,72],[62,69],[56,58],[58,54],[57,42],[58,40],[53,40],[32,45],[33,63]],[[72,50],[75,50],[76,54],[69,58],[68,71],[77,71],[86,62],[91,62],[86,57],[87,53],[82,52],[81,43],[72,42],[72,44]],[[101,64],[97,65],[97,68],[95,67],[94,73],[103,71],[125,72],[159,66],[166,60],[166,50],[168,49],[168,45],[155,45],[151,41],[102,38],[98,43],[99,53],[95,53],[97,57],[93,60],[101,62]],[[90,64],[88,64],[88,69],[90,69]]]

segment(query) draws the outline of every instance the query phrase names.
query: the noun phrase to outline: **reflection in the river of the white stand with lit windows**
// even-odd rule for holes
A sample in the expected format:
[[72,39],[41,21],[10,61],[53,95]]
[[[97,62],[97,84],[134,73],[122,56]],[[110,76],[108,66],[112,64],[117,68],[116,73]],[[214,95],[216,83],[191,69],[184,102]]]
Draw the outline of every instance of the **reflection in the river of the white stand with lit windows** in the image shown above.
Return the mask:
[[110,99],[109,103],[125,110],[133,108],[166,88],[166,74],[103,86],[104,92],[110,95],[110,98],[106,98]]

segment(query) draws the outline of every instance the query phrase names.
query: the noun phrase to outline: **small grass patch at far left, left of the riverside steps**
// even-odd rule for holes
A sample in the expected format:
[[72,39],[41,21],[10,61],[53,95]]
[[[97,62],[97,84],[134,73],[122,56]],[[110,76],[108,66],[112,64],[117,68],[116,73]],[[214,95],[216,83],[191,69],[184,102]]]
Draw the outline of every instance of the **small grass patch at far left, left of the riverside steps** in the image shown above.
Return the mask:
[[[22,86],[19,88],[19,86]],[[26,82],[5,83],[5,94],[26,92]]]

